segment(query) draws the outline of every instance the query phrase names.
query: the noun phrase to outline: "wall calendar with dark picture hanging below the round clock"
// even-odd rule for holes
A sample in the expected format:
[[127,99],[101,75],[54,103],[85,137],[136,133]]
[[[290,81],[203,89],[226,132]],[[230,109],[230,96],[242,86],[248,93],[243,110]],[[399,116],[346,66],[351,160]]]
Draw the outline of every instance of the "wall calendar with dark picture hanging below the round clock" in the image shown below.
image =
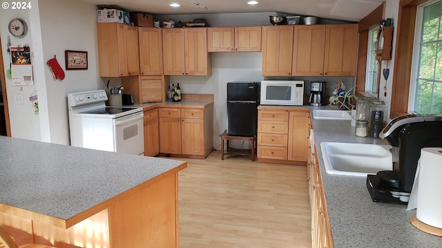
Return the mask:
[[11,74],[14,85],[34,85],[30,47],[11,46]]

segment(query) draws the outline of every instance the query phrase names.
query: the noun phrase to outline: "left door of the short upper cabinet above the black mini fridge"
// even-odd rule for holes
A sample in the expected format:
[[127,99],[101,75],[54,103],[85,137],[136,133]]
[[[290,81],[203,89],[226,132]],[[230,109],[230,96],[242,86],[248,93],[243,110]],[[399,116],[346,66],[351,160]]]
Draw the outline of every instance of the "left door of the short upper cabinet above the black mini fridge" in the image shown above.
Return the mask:
[[207,28],[208,52],[233,52],[235,28]]

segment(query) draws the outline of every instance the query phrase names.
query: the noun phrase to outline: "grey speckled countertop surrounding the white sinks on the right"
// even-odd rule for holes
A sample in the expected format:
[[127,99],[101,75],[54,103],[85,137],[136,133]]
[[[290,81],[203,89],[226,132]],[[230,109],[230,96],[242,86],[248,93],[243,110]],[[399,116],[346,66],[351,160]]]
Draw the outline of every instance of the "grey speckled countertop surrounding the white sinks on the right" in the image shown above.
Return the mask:
[[388,144],[387,141],[356,136],[350,121],[312,118],[312,122],[336,248],[442,247],[441,237],[426,234],[410,223],[416,209],[407,211],[407,205],[374,203],[365,185],[365,176],[338,176],[325,172],[321,142]]

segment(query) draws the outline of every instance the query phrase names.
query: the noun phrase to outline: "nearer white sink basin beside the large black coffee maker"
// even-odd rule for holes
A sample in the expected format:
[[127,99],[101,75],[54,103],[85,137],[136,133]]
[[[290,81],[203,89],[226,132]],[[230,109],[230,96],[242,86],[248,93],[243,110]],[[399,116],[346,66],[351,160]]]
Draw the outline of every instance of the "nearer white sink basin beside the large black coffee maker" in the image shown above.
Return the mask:
[[390,145],[359,143],[320,143],[327,174],[367,176],[392,170]]

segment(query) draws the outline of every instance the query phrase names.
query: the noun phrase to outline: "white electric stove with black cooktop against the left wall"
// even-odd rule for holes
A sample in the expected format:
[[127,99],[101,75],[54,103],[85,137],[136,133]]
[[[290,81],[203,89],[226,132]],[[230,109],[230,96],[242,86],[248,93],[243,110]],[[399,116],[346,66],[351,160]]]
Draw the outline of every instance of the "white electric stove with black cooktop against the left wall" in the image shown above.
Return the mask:
[[104,90],[68,94],[70,145],[142,155],[143,108],[106,106],[107,100]]

